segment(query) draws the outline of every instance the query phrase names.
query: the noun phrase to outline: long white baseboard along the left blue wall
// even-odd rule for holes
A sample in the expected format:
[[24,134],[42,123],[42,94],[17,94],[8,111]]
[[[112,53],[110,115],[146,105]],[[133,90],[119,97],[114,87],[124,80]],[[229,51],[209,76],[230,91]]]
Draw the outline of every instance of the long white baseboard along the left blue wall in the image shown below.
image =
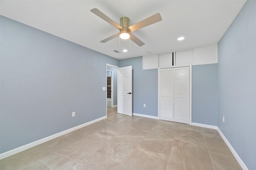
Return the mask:
[[54,138],[57,138],[57,137],[60,137],[60,136],[62,136],[62,135],[65,135],[65,134],[67,134],[67,133],[70,133],[70,132],[72,132],[72,131],[75,131],[75,130],[77,130],[77,129],[80,129],[80,128],[82,128],[82,127],[88,126],[88,125],[90,125],[90,124],[92,124],[92,123],[95,123],[95,122],[97,122],[97,121],[101,121],[102,119],[106,119],[106,118],[107,118],[107,116],[103,116],[103,117],[100,117],[100,118],[95,119],[95,120],[93,120],[93,121],[89,121],[89,122],[87,122],[87,123],[84,123],[84,124],[82,124],[82,125],[78,125],[78,126],[76,126],[76,127],[72,127],[72,128],[70,128],[70,129],[67,129],[67,130],[65,130],[65,131],[62,131],[62,132],[60,132],[60,133],[56,133],[56,134],[54,134],[54,135],[45,137],[45,138],[43,138],[43,139],[39,139],[38,141],[34,141],[34,142],[32,142],[32,143],[28,143],[27,145],[23,145],[23,146],[21,146],[21,147],[18,147],[18,148],[9,150],[9,151],[7,151],[7,152],[4,152],[4,153],[0,154],[0,160],[3,159],[3,158],[6,158],[6,157],[8,157],[8,156],[12,156],[13,154],[16,154],[16,153],[18,153],[18,152],[21,152],[21,151],[23,151],[23,150],[26,150],[26,149],[35,147],[36,145],[40,145],[40,144],[42,144],[42,143],[44,143],[44,142],[50,141],[50,140],[52,140],[52,139],[54,139]]

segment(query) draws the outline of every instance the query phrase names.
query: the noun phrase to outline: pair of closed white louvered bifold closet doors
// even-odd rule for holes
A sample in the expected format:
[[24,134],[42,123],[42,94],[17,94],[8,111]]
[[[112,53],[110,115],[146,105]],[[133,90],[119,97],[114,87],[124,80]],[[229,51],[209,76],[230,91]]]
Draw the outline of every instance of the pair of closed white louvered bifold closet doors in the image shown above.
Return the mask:
[[160,119],[190,123],[190,67],[161,68]]

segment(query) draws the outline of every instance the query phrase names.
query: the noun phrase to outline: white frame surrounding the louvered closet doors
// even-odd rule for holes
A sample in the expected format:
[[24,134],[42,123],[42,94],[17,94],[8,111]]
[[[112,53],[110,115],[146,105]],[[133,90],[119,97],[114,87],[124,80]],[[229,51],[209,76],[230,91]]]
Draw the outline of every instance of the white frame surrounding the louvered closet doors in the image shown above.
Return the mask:
[[[175,58],[175,57],[174,57]],[[189,67],[189,124],[192,124],[192,65],[170,66],[168,68]],[[160,119],[160,68],[158,68],[158,119]]]

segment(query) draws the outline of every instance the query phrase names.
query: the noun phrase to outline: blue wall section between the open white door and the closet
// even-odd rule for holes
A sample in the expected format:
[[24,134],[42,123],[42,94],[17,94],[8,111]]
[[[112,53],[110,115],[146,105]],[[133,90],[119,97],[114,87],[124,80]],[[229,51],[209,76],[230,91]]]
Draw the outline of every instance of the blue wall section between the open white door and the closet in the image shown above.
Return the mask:
[[132,66],[133,113],[158,116],[158,70],[142,70],[142,57],[120,60],[119,66]]

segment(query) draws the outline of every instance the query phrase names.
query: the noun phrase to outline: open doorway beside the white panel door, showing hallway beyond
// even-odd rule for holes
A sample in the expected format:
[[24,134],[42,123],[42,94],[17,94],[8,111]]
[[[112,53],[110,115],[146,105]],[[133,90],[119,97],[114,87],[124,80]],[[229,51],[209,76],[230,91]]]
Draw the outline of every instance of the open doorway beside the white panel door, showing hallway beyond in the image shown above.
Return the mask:
[[118,66],[107,64],[106,66],[106,106],[107,117],[117,113],[117,83]]

